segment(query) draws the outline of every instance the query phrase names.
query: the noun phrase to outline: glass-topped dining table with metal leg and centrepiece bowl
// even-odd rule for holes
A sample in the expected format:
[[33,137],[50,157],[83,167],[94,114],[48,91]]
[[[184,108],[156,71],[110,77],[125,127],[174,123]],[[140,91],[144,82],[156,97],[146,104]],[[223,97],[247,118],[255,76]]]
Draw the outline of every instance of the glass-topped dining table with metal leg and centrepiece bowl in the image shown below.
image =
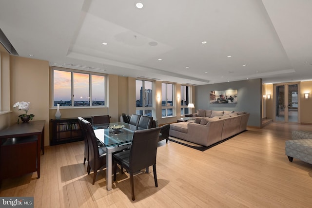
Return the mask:
[[123,122],[95,124],[92,125],[92,127],[96,137],[106,148],[106,189],[111,190],[113,167],[112,153],[131,146],[132,137],[137,127]]

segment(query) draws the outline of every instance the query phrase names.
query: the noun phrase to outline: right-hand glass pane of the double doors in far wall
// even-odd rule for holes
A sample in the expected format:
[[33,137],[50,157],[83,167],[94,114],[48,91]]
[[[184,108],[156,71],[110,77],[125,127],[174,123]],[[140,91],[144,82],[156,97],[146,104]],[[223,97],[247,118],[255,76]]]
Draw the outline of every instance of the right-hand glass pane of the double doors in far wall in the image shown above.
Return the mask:
[[288,85],[288,121],[298,122],[298,85]]

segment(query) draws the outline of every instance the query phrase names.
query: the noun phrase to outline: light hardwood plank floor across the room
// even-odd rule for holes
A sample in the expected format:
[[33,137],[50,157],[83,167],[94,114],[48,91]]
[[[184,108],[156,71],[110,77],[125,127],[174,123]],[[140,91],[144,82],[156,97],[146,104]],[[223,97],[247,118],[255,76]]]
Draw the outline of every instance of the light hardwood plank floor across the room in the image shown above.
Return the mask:
[[209,150],[174,142],[159,143],[158,188],[150,173],[135,176],[136,201],[129,175],[118,174],[106,190],[105,170],[93,173],[83,165],[83,141],[57,145],[41,155],[41,177],[28,174],[2,182],[0,196],[34,196],[35,208],[78,207],[312,207],[312,165],[285,155],[292,130],[312,126],[272,122],[248,128]]

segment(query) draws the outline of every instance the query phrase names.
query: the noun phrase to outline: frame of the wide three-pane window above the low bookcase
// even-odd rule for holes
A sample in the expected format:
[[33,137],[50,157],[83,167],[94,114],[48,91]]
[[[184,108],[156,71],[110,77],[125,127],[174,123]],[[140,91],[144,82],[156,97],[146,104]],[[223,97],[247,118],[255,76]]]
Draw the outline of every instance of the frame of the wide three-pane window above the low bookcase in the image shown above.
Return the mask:
[[[51,93],[52,93],[52,99],[51,99],[51,106],[52,108],[57,108],[57,106],[54,105],[54,71],[64,71],[64,72],[70,72],[71,73],[71,106],[60,106],[60,108],[107,108],[108,107],[108,81],[107,81],[107,74],[104,73],[97,73],[97,72],[89,72],[89,71],[83,71],[83,70],[77,70],[77,69],[69,69],[69,68],[60,68],[60,67],[51,67]],[[75,106],[75,100],[74,100],[74,73],[79,74],[87,74],[89,75],[89,105],[86,106]],[[92,75],[96,76],[103,76],[104,77],[104,102],[105,105],[92,105]]]

